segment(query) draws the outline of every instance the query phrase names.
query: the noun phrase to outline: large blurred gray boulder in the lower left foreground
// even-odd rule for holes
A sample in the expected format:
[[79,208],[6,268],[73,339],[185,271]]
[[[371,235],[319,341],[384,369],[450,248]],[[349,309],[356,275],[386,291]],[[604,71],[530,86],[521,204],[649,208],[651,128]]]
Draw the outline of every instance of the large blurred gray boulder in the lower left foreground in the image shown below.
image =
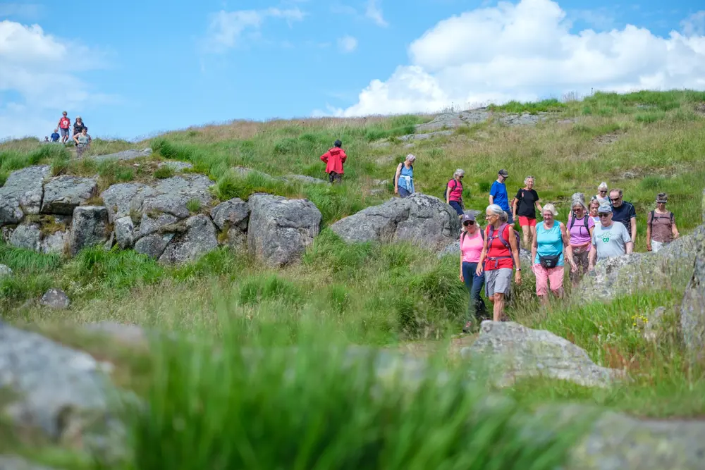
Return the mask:
[[10,392],[0,412],[13,426],[90,452],[120,447],[123,426],[109,409],[114,390],[84,352],[0,321],[0,389]]

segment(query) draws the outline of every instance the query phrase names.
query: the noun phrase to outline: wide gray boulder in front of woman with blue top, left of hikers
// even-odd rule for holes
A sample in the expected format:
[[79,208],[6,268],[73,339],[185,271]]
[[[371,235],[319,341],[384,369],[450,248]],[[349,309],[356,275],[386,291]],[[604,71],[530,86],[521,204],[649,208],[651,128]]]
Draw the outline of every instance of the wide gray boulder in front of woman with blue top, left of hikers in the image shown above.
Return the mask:
[[460,221],[441,199],[417,193],[367,207],[333,223],[331,230],[346,242],[402,240],[438,250],[458,240]]

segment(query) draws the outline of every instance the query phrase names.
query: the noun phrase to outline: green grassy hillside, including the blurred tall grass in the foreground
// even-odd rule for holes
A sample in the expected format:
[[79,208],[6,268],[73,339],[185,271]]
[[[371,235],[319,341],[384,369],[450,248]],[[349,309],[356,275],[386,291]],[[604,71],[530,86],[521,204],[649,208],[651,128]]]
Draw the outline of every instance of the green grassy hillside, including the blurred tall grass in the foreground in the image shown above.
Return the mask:
[[[589,198],[601,181],[608,182],[610,187],[620,187],[625,192],[625,200],[635,204],[637,209],[637,251],[645,249],[646,211],[653,209],[658,192],[668,192],[669,208],[675,212],[682,234],[701,223],[705,93],[595,94],[584,101],[510,103],[492,109],[496,113],[547,112],[549,115],[546,121],[531,127],[509,127],[496,122],[465,126],[454,130],[450,136],[419,141],[412,148],[405,147],[405,142],[396,137],[414,132],[416,124],[431,120],[433,116],[266,123],[235,121],[168,132],[136,144],[94,140],[92,154],[152,147],[154,154],[143,160],[146,165],[140,164],[137,169],[133,167],[134,162],[73,161],[71,149],[45,146],[31,140],[12,141],[0,144],[0,181],[17,168],[49,163],[55,174],[98,173],[101,186],[107,187],[117,181],[159,177],[154,175],[154,163],[176,159],[190,161],[195,166],[194,171],[216,180],[215,194],[221,200],[235,196],[247,199],[255,191],[307,197],[321,209],[324,225],[329,225],[391,197],[391,183],[382,186],[386,190],[383,194],[371,192],[377,187],[375,180],[391,182],[396,163],[411,152],[417,156],[417,191],[439,195],[455,168],[463,168],[466,206],[472,209],[483,210],[486,206],[489,187],[499,168],[506,168],[510,173],[510,192],[522,185],[526,175],[533,175],[539,195],[544,202],[558,206],[561,221],[567,218],[567,204],[573,192],[584,192]],[[338,187],[284,184],[257,174],[243,178],[231,169],[245,166],[270,175],[297,173],[324,178],[324,163],[319,156],[338,138],[349,156],[344,184]],[[379,145],[381,139],[389,144]],[[384,345],[419,353],[443,353],[448,348],[457,349],[458,339],[453,335],[459,332],[467,308],[467,292],[458,280],[455,256],[437,259],[433,253],[403,243],[345,245],[326,229],[300,264],[285,269],[262,266],[245,254],[224,248],[204,256],[196,264],[165,268],[131,251],[87,249],[73,259],[62,259],[0,245],[0,264],[7,264],[16,273],[12,278],[0,279],[0,309],[4,317],[54,331],[57,338],[66,342],[71,342],[71,338],[52,329],[57,322],[114,320],[202,333],[209,338],[223,338],[228,345],[238,347],[262,342],[267,345],[313,344],[316,343],[314,338],[320,340],[322,336],[326,342],[343,345]],[[47,311],[26,302],[56,285],[71,297],[71,310]],[[576,306],[575,302],[556,301],[541,309],[532,280],[527,279],[509,307],[513,320],[568,338],[587,350],[599,364],[629,369],[635,380],[609,390],[588,389],[560,381],[527,380],[505,391],[493,390],[492,394],[508,395],[530,408],[546,402],[568,401],[623,409],[639,416],[704,416],[705,369],[703,364],[683,359],[675,327],[684,289],[685,280],[676,280],[673,285],[654,285],[653,290],[620,297],[610,304],[577,302]],[[573,295],[579,296],[580,292]],[[660,306],[667,309],[670,328],[667,328],[666,338],[654,344],[642,338],[637,319]],[[75,343],[81,344],[78,340]],[[235,373],[228,376],[228,381],[221,381],[223,371],[240,370],[237,364],[242,359],[236,349],[233,348],[230,356],[212,361],[210,352],[177,348],[164,351],[156,364],[152,364],[169,374],[147,378],[156,388],[137,387],[158,405],[152,409],[153,415],[138,426],[141,459],[138,468],[157,468],[165,459],[173,459],[173,462],[169,460],[173,465],[168,468],[210,468],[216,457],[209,449],[223,448],[231,435],[242,431],[233,423],[247,421],[248,415],[243,411],[247,407],[260,411],[269,409],[272,414],[267,415],[269,418],[262,431],[274,436],[271,442],[247,444],[253,446],[248,452],[258,455],[272,451],[267,454],[271,455],[271,462],[261,464],[261,468],[275,468],[277,459],[286,459],[287,444],[292,442],[293,436],[301,436],[301,428],[297,427],[294,417],[297,407],[304,406],[306,400],[317,399],[324,389],[331,390],[326,394],[331,402],[326,402],[321,409],[333,418],[327,422],[329,427],[316,421],[316,414],[306,418],[304,427],[310,427],[313,434],[307,437],[305,448],[313,454],[319,452],[321,446],[333,449],[326,454],[326,458],[331,459],[326,462],[349,463],[337,468],[458,468],[443,466],[443,462],[469,458],[465,450],[458,447],[458,436],[467,431],[464,427],[467,423],[455,423],[451,409],[443,408],[444,404],[453,403],[457,405],[456,410],[470,413],[477,406],[477,397],[458,395],[458,390],[462,390],[458,387],[448,388],[455,390],[454,395],[448,390],[439,390],[437,385],[429,385],[425,395],[413,396],[404,404],[401,397],[391,391],[373,404],[360,395],[351,394],[349,390],[358,390],[355,386],[360,384],[345,382],[341,374],[326,369],[325,364],[314,360],[319,355],[314,352],[306,356],[311,362],[302,365],[302,376],[306,380],[301,383],[272,382],[272,378],[277,377],[276,371],[280,370],[277,367],[281,367],[276,361],[271,364],[271,371],[262,369],[266,375],[253,377]],[[102,347],[95,350],[112,354]],[[118,363],[124,360],[122,354],[114,354],[114,358]],[[127,364],[125,368],[128,376],[145,374],[142,363]],[[168,381],[168,377],[175,377],[174,381]],[[327,384],[321,385],[323,388],[307,385],[307,381],[320,377]],[[128,385],[130,383],[128,381]],[[243,383],[248,386],[243,387]],[[193,386],[184,388],[184,384]],[[291,398],[281,401],[282,395],[276,390],[293,390],[288,389],[289,386],[300,394],[296,395],[298,401]],[[232,390],[243,390],[243,393],[233,395],[231,401],[223,398]],[[484,395],[486,390],[479,393]],[[174,434],[171,426],[148,426],[162,421],[171,423],[173,415],[178,414],[176,410],[196,398],[223,400],[212,414],[181,416],[202,435]],[[281,405],[276,408],[276,417],[292,414],[286,421],[290,426],[281,426],[274,418],[272,403]],[[379,422],[380,416],[396,416],[407,410],[403,408],[407,406],[415,412],[405,412],[404,419],[389,424],[398,435],[397,431],[386,434],[390,439],[386,441],[370,438],[364,443],[367,447],[359,443],[362,447],[355,449],[364,447],[364,452],[341,450],[341,446],[355,436],[387,433],[388,430],[372,423]],[[334,413],[345,407],[369,410],[370,414],[361,416],[362,421],[356,421],[353,426]],[[224,409],[230,411],[219,415],[219,410]],[[429,410],[437,414],[429,412],[433,415],[430,416]],[[499,457],[488,454],[485,459],[484,454],[479,454],[482,458],[477,460],[476,466],[462,468],[553,468],[552,462],[563,458],[560,449],[565,443],[544,443],[546,447],[536,447],[539,454],[545,451],[545,461],[538,459],[537,454],[522,453],[528,452],[529,447],[514,434],[514,425],[510,423],[514,421],[510,417],[515,412],[516,409],[511,409],[489,415],[488,422],[506,423],[506,428],[497,425],[484,435],[484,428],[477,425],[474,434],[477,443],[472,442],[475,449],[488,449],[486,439],[494,439],[487,437],[494,435],[492,432],[505,436],[501,445],[510,446],[510,441],[516,438],[515,448],[519,449],[516,459],[495,460],[494,466],[488,467],[483,465],[491,462],[493,455],[496,459]],[[320,426],[314,426],[314,421]],[[344,435],[345,439],[326,438],[347,426],[350,426],[350,433]],[[438,447],[427,449],[413,435],[402,436],[403,431],[399,430],[405,426],[409,429],[419,426],[434,429],[436,426],[443,438],[439,438]],[[245,443],[228,442],[228,445],[240,447],[227,458],[221,456],[222,462],[242,465],[238,459],[246,454],[241,447]],[[397,453],[381,452],[383,443],[391,445],[389,448]],[[557,447],[553,447],[554,444]],[[159,445],[163,445],[159,452],[152,452]],[[202,452],[189,452],[196,448]],[[409,454],[410,448],[417,452]],[[441,448],[447,452],[439,451]],[[175,456],[182,455],[179,452],[190,454],[188,459],[182,456],[181,460],[188,464],[178,466]],[[300,458],[298,466],[292,468],[314,468],[308,457]],[[227,465],[222,462],[225,468]],[[508,466],[507,462],[538,463]],[[320,465],[315,468],[329,468]]]

